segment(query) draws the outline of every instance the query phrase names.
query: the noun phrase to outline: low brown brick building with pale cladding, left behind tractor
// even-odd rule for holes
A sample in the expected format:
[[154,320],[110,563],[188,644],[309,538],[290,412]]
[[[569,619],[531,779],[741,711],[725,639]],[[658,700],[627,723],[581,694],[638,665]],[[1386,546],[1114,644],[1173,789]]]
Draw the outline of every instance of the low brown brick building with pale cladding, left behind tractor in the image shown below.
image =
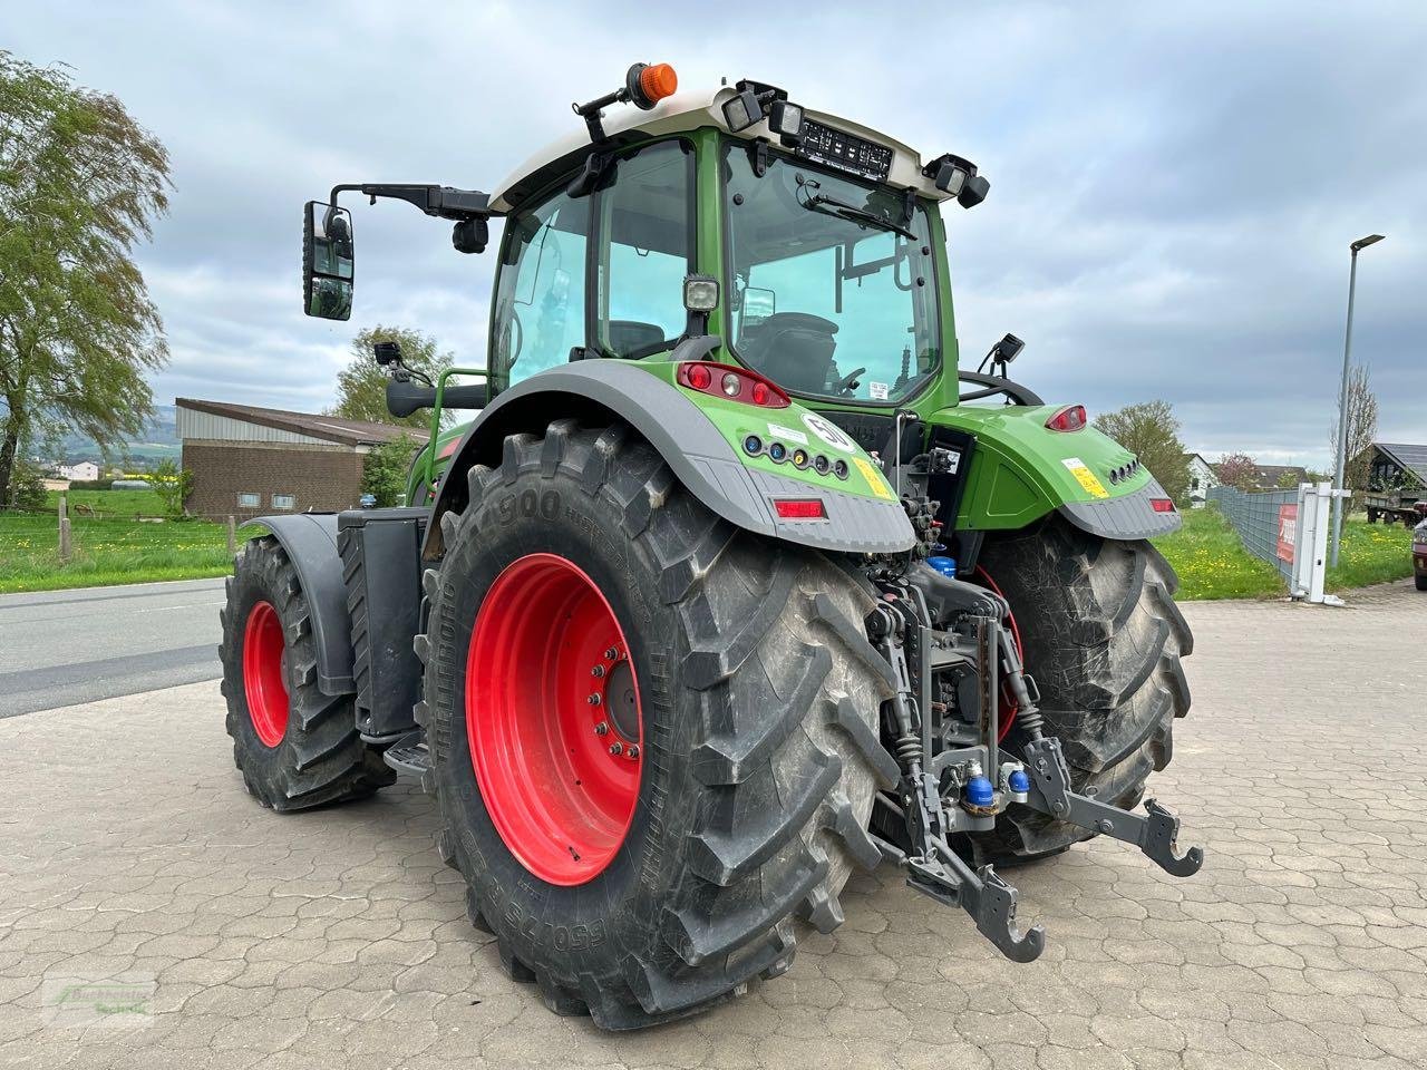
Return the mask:
[[357,505],[362,461],[374,445],[427,432],[313,412],[177,399],[187,508],[241,519],[271,512],[330,512]]

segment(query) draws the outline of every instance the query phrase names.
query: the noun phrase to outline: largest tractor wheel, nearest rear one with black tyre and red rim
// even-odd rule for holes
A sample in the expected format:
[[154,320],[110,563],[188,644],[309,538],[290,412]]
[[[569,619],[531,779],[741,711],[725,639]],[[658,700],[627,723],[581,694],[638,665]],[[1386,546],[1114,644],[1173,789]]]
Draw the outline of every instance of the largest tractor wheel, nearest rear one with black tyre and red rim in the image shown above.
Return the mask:
[[870,589],[719,519],[624,425],[512,435],[468,486],[417,652],[471,920],[606,1029],[782,973],[793,919],[836,927],[879,860]]

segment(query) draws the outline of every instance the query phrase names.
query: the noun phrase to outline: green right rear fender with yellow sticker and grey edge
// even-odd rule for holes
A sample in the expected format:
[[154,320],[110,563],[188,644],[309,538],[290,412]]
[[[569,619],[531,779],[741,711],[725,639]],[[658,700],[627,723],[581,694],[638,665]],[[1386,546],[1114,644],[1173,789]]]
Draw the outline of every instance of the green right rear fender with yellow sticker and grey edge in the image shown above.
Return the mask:
[[[1157,512],[1169,495],[1149,469],[1113,438],[1085,427],[1052,431],[1060,405],[959,405],[935,412],[933,427],[975,437],[958,531],[1025,528],[1060,512],[1077,528],[1110,539],[1144,539],[1180,526],[1177,512]],[[1126,467],[1133,471],[1124,474]]]

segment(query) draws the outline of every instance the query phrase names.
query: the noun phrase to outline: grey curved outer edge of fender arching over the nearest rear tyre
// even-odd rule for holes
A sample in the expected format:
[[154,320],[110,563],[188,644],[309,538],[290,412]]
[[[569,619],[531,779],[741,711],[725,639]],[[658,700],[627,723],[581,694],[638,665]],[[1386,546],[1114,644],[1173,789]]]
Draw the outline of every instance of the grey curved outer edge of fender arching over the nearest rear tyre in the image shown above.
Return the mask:
[[[789,409],[775,412],[788,414]],[[679,482],[739,528],[805,546],[855,554],[896,554],[915,542],[912,525],[890,491],[882,498],[853,495],[836,486],[815,488],[802,479],[759,471],[745,462],[699,405],[665,378],[636,364],[595,360],[532,375],[502,391],[481,411],[440,481],[424,556],[435,559],[445,552],[441,518],[465,509],[465,477],[474,465],[498,467],[508,435],[544,434],[552,419],[567,417],[589,425],[616,419],[629,424],[659,452]],[[886,486],[885,481],[878,485]],[[825,499],[828,519],[778,516],[776,496],[811,494]]]

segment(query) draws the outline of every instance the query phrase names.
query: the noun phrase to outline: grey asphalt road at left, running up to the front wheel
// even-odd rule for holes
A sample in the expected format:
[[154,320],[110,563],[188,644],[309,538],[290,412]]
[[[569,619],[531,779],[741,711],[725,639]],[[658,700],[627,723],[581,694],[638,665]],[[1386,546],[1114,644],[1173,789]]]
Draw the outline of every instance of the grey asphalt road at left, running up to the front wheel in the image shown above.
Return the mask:
[[0,718],[215,679],[221,579],[0,595]]

